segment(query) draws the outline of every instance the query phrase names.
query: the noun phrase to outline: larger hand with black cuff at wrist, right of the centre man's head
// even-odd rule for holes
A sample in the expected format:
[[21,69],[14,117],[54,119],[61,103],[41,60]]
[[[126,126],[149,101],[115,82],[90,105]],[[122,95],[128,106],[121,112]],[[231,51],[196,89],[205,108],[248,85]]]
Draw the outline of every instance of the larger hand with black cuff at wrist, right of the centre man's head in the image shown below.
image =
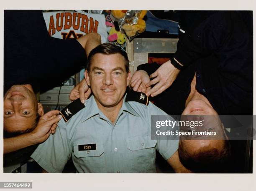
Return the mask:
[[174,80],[177,78],[180,70],[172,65],[171,60],[163,63],[154,73],[150,75],[150,78],[154,78],[146,87],[156,84],[151,90],[149,90],[146,95],[151,95],[152,97],[162,93],[164,90],[169,88]]

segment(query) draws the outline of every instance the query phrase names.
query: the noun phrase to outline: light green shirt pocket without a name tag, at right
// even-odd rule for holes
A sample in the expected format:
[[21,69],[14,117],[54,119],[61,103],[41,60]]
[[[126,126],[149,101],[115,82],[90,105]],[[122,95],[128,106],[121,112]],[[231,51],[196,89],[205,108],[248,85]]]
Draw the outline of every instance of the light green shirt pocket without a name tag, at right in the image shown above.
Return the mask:
[[133,172],[152,173],[156,171],[156,140],[149,136],[126,138],[128,158]]

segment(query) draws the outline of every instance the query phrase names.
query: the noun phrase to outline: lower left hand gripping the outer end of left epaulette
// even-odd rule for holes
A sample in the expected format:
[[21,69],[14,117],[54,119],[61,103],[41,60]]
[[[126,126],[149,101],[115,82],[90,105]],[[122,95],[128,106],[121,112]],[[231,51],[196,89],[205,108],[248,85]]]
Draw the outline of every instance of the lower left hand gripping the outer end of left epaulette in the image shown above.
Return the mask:
[[36,143],[44,142],[51,133],[55,133],[57,123],[62,118],[62,116],[58,114],[58,110],[53,110],[40,117],[36,128],[31,132]]

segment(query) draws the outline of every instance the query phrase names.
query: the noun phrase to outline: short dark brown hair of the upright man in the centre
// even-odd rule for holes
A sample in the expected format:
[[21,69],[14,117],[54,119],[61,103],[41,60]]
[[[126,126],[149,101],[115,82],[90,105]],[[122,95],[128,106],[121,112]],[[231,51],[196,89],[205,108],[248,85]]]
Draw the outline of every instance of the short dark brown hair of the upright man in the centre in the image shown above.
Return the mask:
[[95,54],[100,53],[104,55],[111,55],[111,54],[120,54],[125,59],[125,70],[128,73],[129,71],[129,60],[127,53],[122,50],[119,46],[110,44],[110,43],[103,43],[92,49],[90,52],[88,59],[87,59],[87,67],[86,70],[90,72],[90,65],[92,63],[92,58]]

